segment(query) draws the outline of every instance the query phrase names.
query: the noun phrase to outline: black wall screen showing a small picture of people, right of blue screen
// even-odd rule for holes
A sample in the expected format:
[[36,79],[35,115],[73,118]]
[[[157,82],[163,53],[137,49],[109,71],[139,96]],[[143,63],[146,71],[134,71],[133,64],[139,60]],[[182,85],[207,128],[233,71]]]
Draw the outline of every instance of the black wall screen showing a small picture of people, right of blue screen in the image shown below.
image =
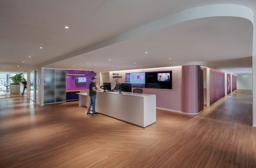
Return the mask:
[[146,87],[172,89],[172,71],[146,72]]

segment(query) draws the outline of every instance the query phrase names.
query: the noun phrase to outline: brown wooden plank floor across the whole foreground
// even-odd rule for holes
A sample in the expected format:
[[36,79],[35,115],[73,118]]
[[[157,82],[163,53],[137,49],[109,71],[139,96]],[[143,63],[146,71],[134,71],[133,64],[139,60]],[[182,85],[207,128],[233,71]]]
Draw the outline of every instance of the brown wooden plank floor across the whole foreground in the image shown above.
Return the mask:
[[251,91],[144,129],[86,110],[0,93],[0,167],[256,167]]

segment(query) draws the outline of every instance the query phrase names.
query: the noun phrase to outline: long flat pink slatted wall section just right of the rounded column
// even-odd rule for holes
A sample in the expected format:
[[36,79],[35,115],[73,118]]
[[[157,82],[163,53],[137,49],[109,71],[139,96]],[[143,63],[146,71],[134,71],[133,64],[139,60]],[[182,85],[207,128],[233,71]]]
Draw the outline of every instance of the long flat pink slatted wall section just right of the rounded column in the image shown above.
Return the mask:
[[225,73],[210,69],[210,105],[225,97]]

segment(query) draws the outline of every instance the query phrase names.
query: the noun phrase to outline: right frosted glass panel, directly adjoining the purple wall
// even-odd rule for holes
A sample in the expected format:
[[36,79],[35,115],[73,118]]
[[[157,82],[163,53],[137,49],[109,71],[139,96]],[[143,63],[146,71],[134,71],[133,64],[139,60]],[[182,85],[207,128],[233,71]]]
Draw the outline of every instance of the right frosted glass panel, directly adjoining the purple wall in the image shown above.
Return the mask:
[[55,102],[66,101],[66,70],[55,70]]

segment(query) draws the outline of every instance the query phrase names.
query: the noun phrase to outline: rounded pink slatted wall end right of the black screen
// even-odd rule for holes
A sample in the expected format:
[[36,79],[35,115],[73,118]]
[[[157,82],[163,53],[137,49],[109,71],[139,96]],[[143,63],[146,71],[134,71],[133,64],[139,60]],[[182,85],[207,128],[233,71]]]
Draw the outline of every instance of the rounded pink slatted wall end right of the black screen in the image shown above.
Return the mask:
[[200,65],[182,66],[182,112],[197,114],[204,110],[204,76]]

